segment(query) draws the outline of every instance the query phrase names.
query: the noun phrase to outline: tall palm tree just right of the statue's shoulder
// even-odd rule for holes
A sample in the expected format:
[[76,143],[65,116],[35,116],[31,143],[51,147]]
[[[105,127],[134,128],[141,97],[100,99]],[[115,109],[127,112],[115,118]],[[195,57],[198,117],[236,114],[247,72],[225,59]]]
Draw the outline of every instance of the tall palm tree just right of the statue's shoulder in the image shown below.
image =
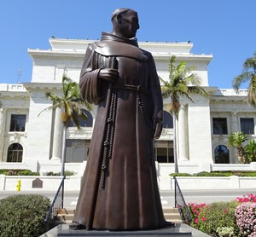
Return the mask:
[[170,113],[173,118],[173,153],[175,173],[178,173],[177,168],[177,136],[176,136],[176,119],[178,119],[180,104],[180,96],[184,96],[192,101],[189,94],[198,94],[207,96],[207,92],[200,86],[200,79],[192,73],[195,66],[187,66],[185,61],[181,61],[177,66],[174,65],[176,57],[172,55],[169,62],[169,80],[160,78],[162,83],[161,90],[164,98],[171,98]]

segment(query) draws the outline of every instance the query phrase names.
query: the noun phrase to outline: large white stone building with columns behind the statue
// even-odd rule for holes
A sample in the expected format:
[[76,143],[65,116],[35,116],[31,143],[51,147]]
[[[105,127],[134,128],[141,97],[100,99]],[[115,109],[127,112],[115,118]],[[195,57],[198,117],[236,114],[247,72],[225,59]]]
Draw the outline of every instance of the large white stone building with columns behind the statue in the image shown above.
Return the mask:
[[[30,83],[0,84],[0,169],[26,168],[41,173],[61,171],[60,112],[38,114],[51,105],[51,101],[45,98],[46,91],[61,93],[63,73],[79,82],[84,51],[91,42],[50,38],[51,49],[28,49],[33,63]],[[238,161],[235,149],[226,147],[227,137],[237,130],[255,136],[256,113],[247,105],[247,90],[236,94],[231,89],[210,87],[207,66],[212,55],[193,55],[192,43],[139,44],[154,56],[161,78],[168,78],[169,60],[171,55],[176,55],[177,63],[186,61],[188,66],[196,67],[201,86],[210,94],[208,98],[193,96],[194,103],[182,101],[177,123],[179,171],[235,169]],[[174,172],[173,123],[168,103],[168,100],[164,101],[165,128],[154,143],[160,176]],[[83,173],[86,164],[96,107],[88,115],[89,119],[81,130],[70,127],[67,132],[66,170],[79,174]]]

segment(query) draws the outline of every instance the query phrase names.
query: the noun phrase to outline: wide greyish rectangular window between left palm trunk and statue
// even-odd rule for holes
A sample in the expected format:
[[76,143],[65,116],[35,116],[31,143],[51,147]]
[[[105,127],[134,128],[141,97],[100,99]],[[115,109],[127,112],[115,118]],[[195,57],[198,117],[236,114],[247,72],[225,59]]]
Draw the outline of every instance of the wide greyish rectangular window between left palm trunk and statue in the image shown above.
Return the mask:
[[79,163],[87,160],[90,141],[83,139],[67,139],[66,163]]

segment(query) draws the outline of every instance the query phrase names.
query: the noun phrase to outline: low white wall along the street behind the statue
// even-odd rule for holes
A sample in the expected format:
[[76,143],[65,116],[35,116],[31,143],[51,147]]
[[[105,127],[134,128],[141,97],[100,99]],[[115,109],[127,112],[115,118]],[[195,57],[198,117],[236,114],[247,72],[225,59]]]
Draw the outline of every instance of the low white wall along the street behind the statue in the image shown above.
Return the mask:
[[[56,191],[60,186],[62,176],[4,176],[0,175],[0,191],[16,191],[17,183],[20,181],[21,191]],[[67,176],[65,180],[65,190],[80,190],[82,176]],[[42,183],[42,187],[33,186],[37,180]],[[174,190],[175,182],[172,176],[159,176],[160,190]],[[177,182],[182,190],[196,189],[248,189],[254,188],[256,177],[241,176],[177,176]]]

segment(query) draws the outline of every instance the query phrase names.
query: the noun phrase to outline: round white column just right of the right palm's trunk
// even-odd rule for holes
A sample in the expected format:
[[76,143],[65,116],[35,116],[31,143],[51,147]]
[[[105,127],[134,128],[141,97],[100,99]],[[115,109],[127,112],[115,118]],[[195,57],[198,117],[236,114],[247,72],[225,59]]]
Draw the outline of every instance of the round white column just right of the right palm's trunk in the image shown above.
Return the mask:
[[178,159],[180,161],[189,160],[189,141],[188,141],[188,113],[187,106],[180,107],[178,113]]

